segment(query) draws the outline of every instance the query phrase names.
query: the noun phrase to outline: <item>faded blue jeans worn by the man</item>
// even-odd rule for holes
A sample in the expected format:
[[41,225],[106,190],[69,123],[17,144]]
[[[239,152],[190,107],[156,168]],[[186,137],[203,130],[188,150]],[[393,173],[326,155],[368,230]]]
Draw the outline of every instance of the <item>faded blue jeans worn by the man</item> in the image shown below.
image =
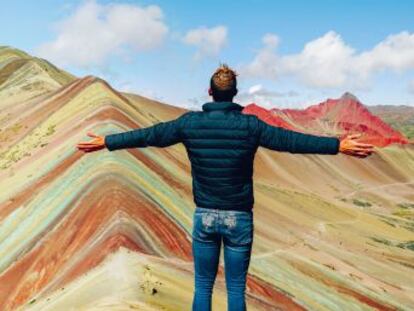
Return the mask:
[[226,211],[196,206],[192,232],[195,280],[192,311],[211,311],[222,240],[227,310],[246,310],[246,277],[253,229],[253,211]]

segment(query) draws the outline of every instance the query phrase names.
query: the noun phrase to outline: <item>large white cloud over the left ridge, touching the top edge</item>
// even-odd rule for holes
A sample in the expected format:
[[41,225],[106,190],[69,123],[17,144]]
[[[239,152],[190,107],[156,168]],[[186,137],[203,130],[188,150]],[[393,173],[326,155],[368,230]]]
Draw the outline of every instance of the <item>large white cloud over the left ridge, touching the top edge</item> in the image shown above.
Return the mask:
[[61,65],[83,68],[104,65],[112,54],[129,54],[158,47],[168,33],[156,5],[83,2],[57,24],[57,37],[35,54]]

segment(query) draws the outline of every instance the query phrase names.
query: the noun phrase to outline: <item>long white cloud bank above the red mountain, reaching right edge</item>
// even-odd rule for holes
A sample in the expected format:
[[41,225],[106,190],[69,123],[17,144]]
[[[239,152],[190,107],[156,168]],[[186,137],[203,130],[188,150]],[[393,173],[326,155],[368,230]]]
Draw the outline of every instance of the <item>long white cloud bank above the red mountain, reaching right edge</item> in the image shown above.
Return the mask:
[[306,86],[318,88],[363,88],[380,71],[414,69],[414,33],[407,31],[389,35],[360,53],[334,31],[306,43],[297,54],[278,54],[276,35],[266,34],[262,41],[262,49],[241,73],[268,79],[293,76]]

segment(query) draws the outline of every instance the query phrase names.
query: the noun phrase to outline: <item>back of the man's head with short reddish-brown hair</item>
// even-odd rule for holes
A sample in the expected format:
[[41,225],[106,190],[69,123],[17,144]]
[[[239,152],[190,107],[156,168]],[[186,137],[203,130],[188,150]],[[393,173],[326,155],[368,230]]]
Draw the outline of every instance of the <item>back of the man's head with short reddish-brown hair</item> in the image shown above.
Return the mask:
[[214,101],[233,101],[237,94],[237,73],[226,64],[220,65],[210,79],[208,94]]

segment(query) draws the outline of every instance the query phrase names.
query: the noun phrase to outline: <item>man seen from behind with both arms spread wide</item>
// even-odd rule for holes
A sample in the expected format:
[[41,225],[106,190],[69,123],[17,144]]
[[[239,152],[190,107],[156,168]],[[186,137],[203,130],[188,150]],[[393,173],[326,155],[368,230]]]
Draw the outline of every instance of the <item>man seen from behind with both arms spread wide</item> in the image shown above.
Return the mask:
[[229,311],[246,310],[245,289],[253,244],[253,161],[258,147],[290,153],[338,153],[364,158],[373,146],[357,139],[304,134],[276,127],[254,115],[241,113],[234,103],[236,73],[220,66],[210,79],[209,95],[202,111],[189,111],[178,118],[107,136],[88,136],[93,140],[77,146],[85,152],[107,148],[186,147],[196,204],[192,251],[195,291],[192,310],[211,311],[211,297],[221,244]]

